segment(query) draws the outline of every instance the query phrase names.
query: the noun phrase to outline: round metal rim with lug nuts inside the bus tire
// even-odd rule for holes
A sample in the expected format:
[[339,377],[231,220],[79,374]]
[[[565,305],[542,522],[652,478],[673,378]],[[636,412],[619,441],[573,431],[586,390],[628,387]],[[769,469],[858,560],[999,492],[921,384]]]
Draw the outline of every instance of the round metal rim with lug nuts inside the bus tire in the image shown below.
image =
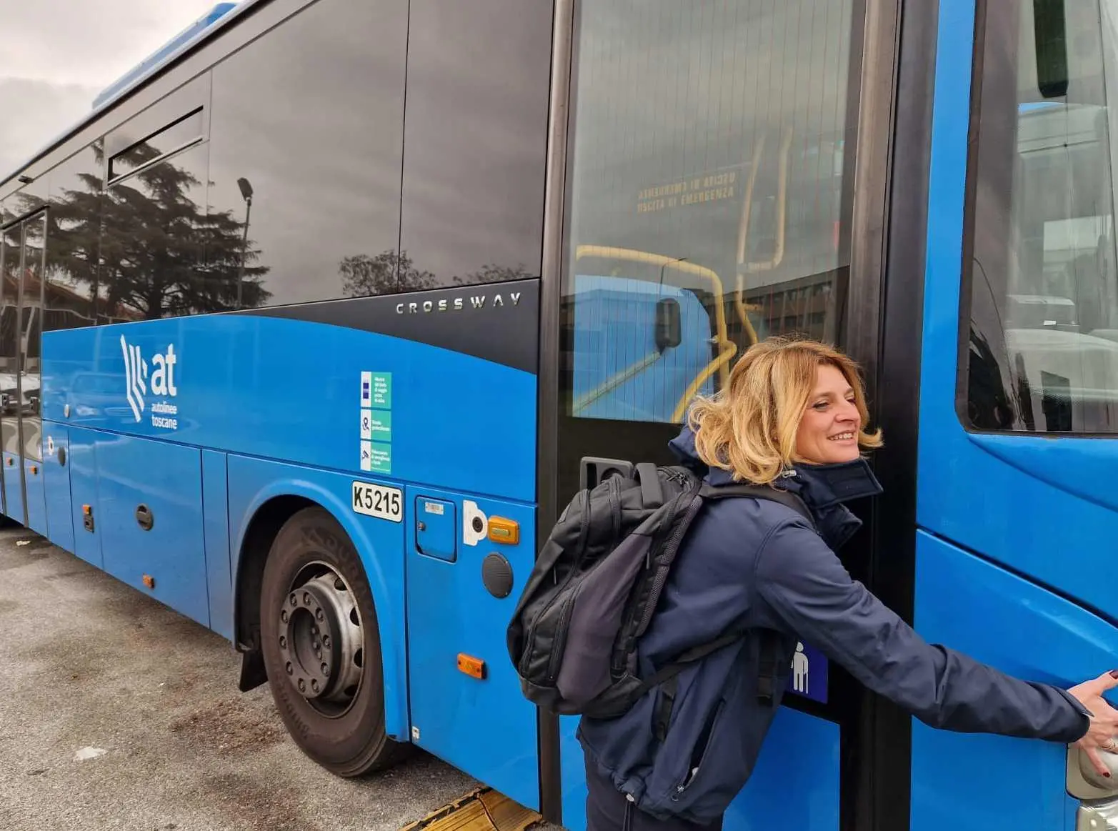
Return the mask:
[[345,578],[325,563],[305,566],[275,615],[291,688],[323,716],[343,716],[361,690],[364,658],[361,612]]

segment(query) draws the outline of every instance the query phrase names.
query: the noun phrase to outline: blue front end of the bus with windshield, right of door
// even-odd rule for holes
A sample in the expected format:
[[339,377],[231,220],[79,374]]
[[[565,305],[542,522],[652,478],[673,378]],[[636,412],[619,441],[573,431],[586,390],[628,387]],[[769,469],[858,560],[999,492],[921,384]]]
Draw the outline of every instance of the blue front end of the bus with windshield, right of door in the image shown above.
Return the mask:
[[[1101,0],[939,8],[915,620],[1067,688],[1118,654],[1118,17]],[[916,724],[911,829],[1103,828],[1077,824],[1079,764]]]

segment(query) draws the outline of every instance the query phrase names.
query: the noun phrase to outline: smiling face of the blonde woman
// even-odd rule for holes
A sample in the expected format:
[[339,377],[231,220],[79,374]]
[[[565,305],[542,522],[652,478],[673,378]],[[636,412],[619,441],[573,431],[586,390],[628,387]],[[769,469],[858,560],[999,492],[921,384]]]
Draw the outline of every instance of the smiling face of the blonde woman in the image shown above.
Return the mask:
[[812,464],[853,462],[859,456],[861,426],[862,417],[846,376],[830,363],[819,365],[796,433],[796,454]]

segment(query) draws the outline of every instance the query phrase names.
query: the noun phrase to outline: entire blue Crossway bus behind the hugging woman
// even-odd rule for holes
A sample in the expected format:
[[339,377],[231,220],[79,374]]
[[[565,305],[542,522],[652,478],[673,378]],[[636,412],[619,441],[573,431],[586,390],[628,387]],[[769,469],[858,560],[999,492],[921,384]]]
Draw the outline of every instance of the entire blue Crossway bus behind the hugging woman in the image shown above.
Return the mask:
[[[222,3],[0,181],[0,508],[227,638],[325,768],[418,747],[580,829],[505,648],[537,546],[798,332],[887,436],[851,574],[1093,677],[1116,46],[1102,0]],[[730,831],[1118,827],[1077,753],[803,654]]]

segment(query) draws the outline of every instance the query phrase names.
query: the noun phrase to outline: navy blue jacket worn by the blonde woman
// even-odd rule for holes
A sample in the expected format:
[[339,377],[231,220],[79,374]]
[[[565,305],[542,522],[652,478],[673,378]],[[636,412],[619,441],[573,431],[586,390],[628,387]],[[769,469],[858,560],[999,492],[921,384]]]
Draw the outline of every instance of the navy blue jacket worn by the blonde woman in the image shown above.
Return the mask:
[[[672,450],[712,485],[684,427]],[[777,695],[759,698],[756,632],[689,665],[678,677],[663,742],[653,724],[662,689],[616,719],[584,718],[589,764],[642,810],[709,822],[749,778],[792,672],[797,640],[819,649],[861,683],[925,724],[948,730],[1071,743],[1089,716],[1068,692],[1018,681],[944,646],[929,645],[859,582],[834,551],[860,520],[845,500],[881,487],[865,462],[797,465],[779,485],[812,510],[818,532],[790,508],[748,498],[707,503],[688,532],[660,606],[638,646],[642,674],[727,629],[780,633]],[[805,753],[807,749],[805,748]]]

